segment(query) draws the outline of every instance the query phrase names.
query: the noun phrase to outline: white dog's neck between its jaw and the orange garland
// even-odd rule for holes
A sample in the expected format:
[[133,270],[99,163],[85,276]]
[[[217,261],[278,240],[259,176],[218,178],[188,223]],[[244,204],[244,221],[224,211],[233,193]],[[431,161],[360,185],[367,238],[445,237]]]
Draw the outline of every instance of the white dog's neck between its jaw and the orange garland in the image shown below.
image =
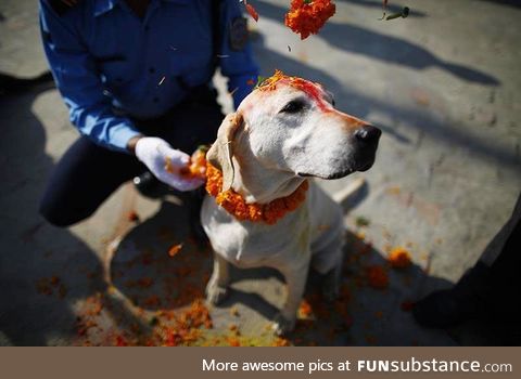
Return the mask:
[[234,166],[232,188],[246,204],[267,204],[289,196],[305,181],[304,178],[280,170],[259,170],[257,159],[246,148],[239,148],[232,159]]

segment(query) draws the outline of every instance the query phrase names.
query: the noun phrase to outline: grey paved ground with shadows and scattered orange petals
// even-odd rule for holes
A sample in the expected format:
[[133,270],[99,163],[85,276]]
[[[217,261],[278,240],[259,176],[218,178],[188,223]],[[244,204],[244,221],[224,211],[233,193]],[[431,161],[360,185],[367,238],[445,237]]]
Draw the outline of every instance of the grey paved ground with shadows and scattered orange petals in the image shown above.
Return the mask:
[[[160,204],[124,186],[86,222],[46,224],[38,197],[77,133],[56,90],[41,84],[0,95],[0,344],[495,342],[472,326],[422,329],[403,303],[457,280],[514,205],[521,9],[510,1],[411,1],[407,19],[380,22],[379,0],[336,1],[322,32],[301,42],[281,23],[287,2],[254,3],[263,74],[280,68],[320,81],[339,108],[384,132],[377,164],[358,175],[367,186],[348,205],[341,301],[325,305],[312,277],[312,312],[303,308],[297,331],[278,340],[267,326],[284,293],[280,277],[237,271],[229,301],[206,315],[193,301],[211,253],[189,240],[174,197]],[[34,1],[0,3],[0,71],[34,77],[47,69]],[[221,100],[229,109],[227,95]],[[351,180],[321,184],[334,193]],[[140,221],[129,220],[130,211]],[[360,217],[368,226],[357,225]],[[169,247],[180,243],[170,258]],[[387,267],[396,246],[411,252],[412,266]],[[389,272],[385,289],[367,284],[370,265]],[[212,328],[195,328],[211,319]]]

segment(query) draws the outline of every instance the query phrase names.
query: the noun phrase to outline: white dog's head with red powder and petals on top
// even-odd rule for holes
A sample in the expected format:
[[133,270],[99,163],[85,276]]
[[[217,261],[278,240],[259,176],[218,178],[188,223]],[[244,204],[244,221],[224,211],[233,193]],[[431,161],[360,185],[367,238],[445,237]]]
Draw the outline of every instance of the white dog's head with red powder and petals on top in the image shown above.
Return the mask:
[[233,182],[237,143],[265,170],[338,179],[372,166],[380,134],[336,110],[320,84],[277,73],[226,117],[207,158],[223,170],[224,188]]

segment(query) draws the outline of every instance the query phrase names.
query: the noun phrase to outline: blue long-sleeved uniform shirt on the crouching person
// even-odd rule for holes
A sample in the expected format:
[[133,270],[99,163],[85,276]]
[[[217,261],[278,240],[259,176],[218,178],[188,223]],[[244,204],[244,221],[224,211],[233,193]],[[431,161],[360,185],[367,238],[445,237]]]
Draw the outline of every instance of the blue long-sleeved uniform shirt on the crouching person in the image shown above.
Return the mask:
[[102,146],[126,152],[140,134],[130,118],[158,117],[209,83],[214,55],[236,107],[256,82],[251,48],[234,35],[244,25],[238,0],[221,0],[217,49],[212,0],[151,0],[142,19],[124,0],[82,0],[65,12],[50,2],[40,0],[40,26],[54,80],[71,121]]

